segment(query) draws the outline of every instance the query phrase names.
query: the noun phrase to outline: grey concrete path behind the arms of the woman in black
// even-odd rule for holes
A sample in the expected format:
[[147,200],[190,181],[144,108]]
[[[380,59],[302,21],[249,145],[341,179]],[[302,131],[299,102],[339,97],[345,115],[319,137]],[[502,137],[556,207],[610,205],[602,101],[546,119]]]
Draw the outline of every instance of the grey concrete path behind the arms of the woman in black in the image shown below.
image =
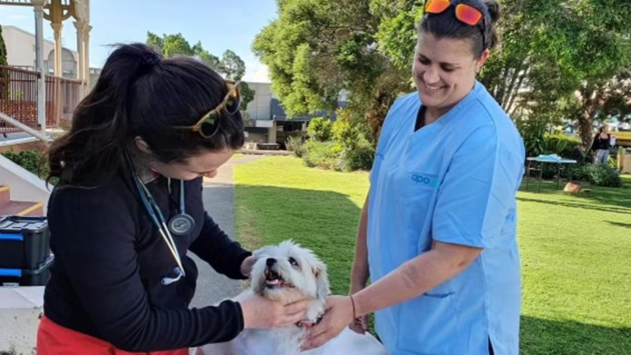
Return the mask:
[[[219,169],[214,179],[204,179],[204,190],[202,192],[204,207],[210,217],[219,224],[230,238],[235,238],[235,195],[232,169],[235,165],[247,164],[262,158],[261,155],[243,155],[231,159]],[[199,269],[197,289],[191,301],[191,307],[209,306],[223,299],[236,296],[239,293],[239,280],[231,280],[224,275],[217,274],[208,263],[199,259],[193,253],[189,253],[189,255]]]

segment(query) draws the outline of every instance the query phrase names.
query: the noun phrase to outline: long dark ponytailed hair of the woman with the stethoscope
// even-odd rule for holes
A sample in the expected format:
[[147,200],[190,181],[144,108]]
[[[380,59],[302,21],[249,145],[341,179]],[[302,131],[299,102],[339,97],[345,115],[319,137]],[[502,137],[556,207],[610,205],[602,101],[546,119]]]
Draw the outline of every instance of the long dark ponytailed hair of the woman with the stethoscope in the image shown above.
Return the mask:
[[227,93],[223,78],[196,59],[162,59],[144,44],[119,45],[76,107],[71,129],[50,146],[47,180],[97,186],[124,166],[124,150],[136,136],[148,143],[152,159],[165,163],[203,150],[239,149],[244,143],[239,112],[222,112],[211,138],[173,129],[192,126]]

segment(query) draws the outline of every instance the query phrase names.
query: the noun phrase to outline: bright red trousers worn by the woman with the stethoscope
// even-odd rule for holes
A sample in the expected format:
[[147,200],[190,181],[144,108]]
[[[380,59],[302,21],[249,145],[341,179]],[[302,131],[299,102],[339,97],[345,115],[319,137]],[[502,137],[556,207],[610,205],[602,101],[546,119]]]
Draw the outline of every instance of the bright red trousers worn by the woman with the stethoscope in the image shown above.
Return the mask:
[[109,342],[64,328],[42,316],[37,330],[37,355],[189,355],[189,349],[129,352]]

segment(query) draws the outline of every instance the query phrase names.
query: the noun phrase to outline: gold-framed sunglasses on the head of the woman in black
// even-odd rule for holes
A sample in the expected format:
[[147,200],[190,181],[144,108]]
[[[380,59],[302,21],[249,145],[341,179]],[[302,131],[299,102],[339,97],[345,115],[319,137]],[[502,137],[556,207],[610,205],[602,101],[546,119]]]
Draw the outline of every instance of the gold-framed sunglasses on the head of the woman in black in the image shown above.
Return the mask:
[[199,135],[204,138],[210,138],[215,135],[219,130],[221,114],[223,112],[230,116],[239,112],[241,82],[237,81],[237,83],[235,83],[234,81],[226,81],[226,86],[228,87],[228,93],[223,97],[221,103],[204,114],[196,124],[192,126],[173,126],[173,128],[198,132]]

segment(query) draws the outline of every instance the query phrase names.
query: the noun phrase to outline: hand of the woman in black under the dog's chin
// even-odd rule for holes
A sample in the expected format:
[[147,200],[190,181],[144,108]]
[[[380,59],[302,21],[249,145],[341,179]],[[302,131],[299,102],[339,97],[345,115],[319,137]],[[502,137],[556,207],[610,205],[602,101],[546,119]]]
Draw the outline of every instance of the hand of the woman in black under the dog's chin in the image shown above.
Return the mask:
[[278,328],[293,325],[302,320],[309,301],[300,299],[283,304],[258,295],[240,302],[244,328]]

